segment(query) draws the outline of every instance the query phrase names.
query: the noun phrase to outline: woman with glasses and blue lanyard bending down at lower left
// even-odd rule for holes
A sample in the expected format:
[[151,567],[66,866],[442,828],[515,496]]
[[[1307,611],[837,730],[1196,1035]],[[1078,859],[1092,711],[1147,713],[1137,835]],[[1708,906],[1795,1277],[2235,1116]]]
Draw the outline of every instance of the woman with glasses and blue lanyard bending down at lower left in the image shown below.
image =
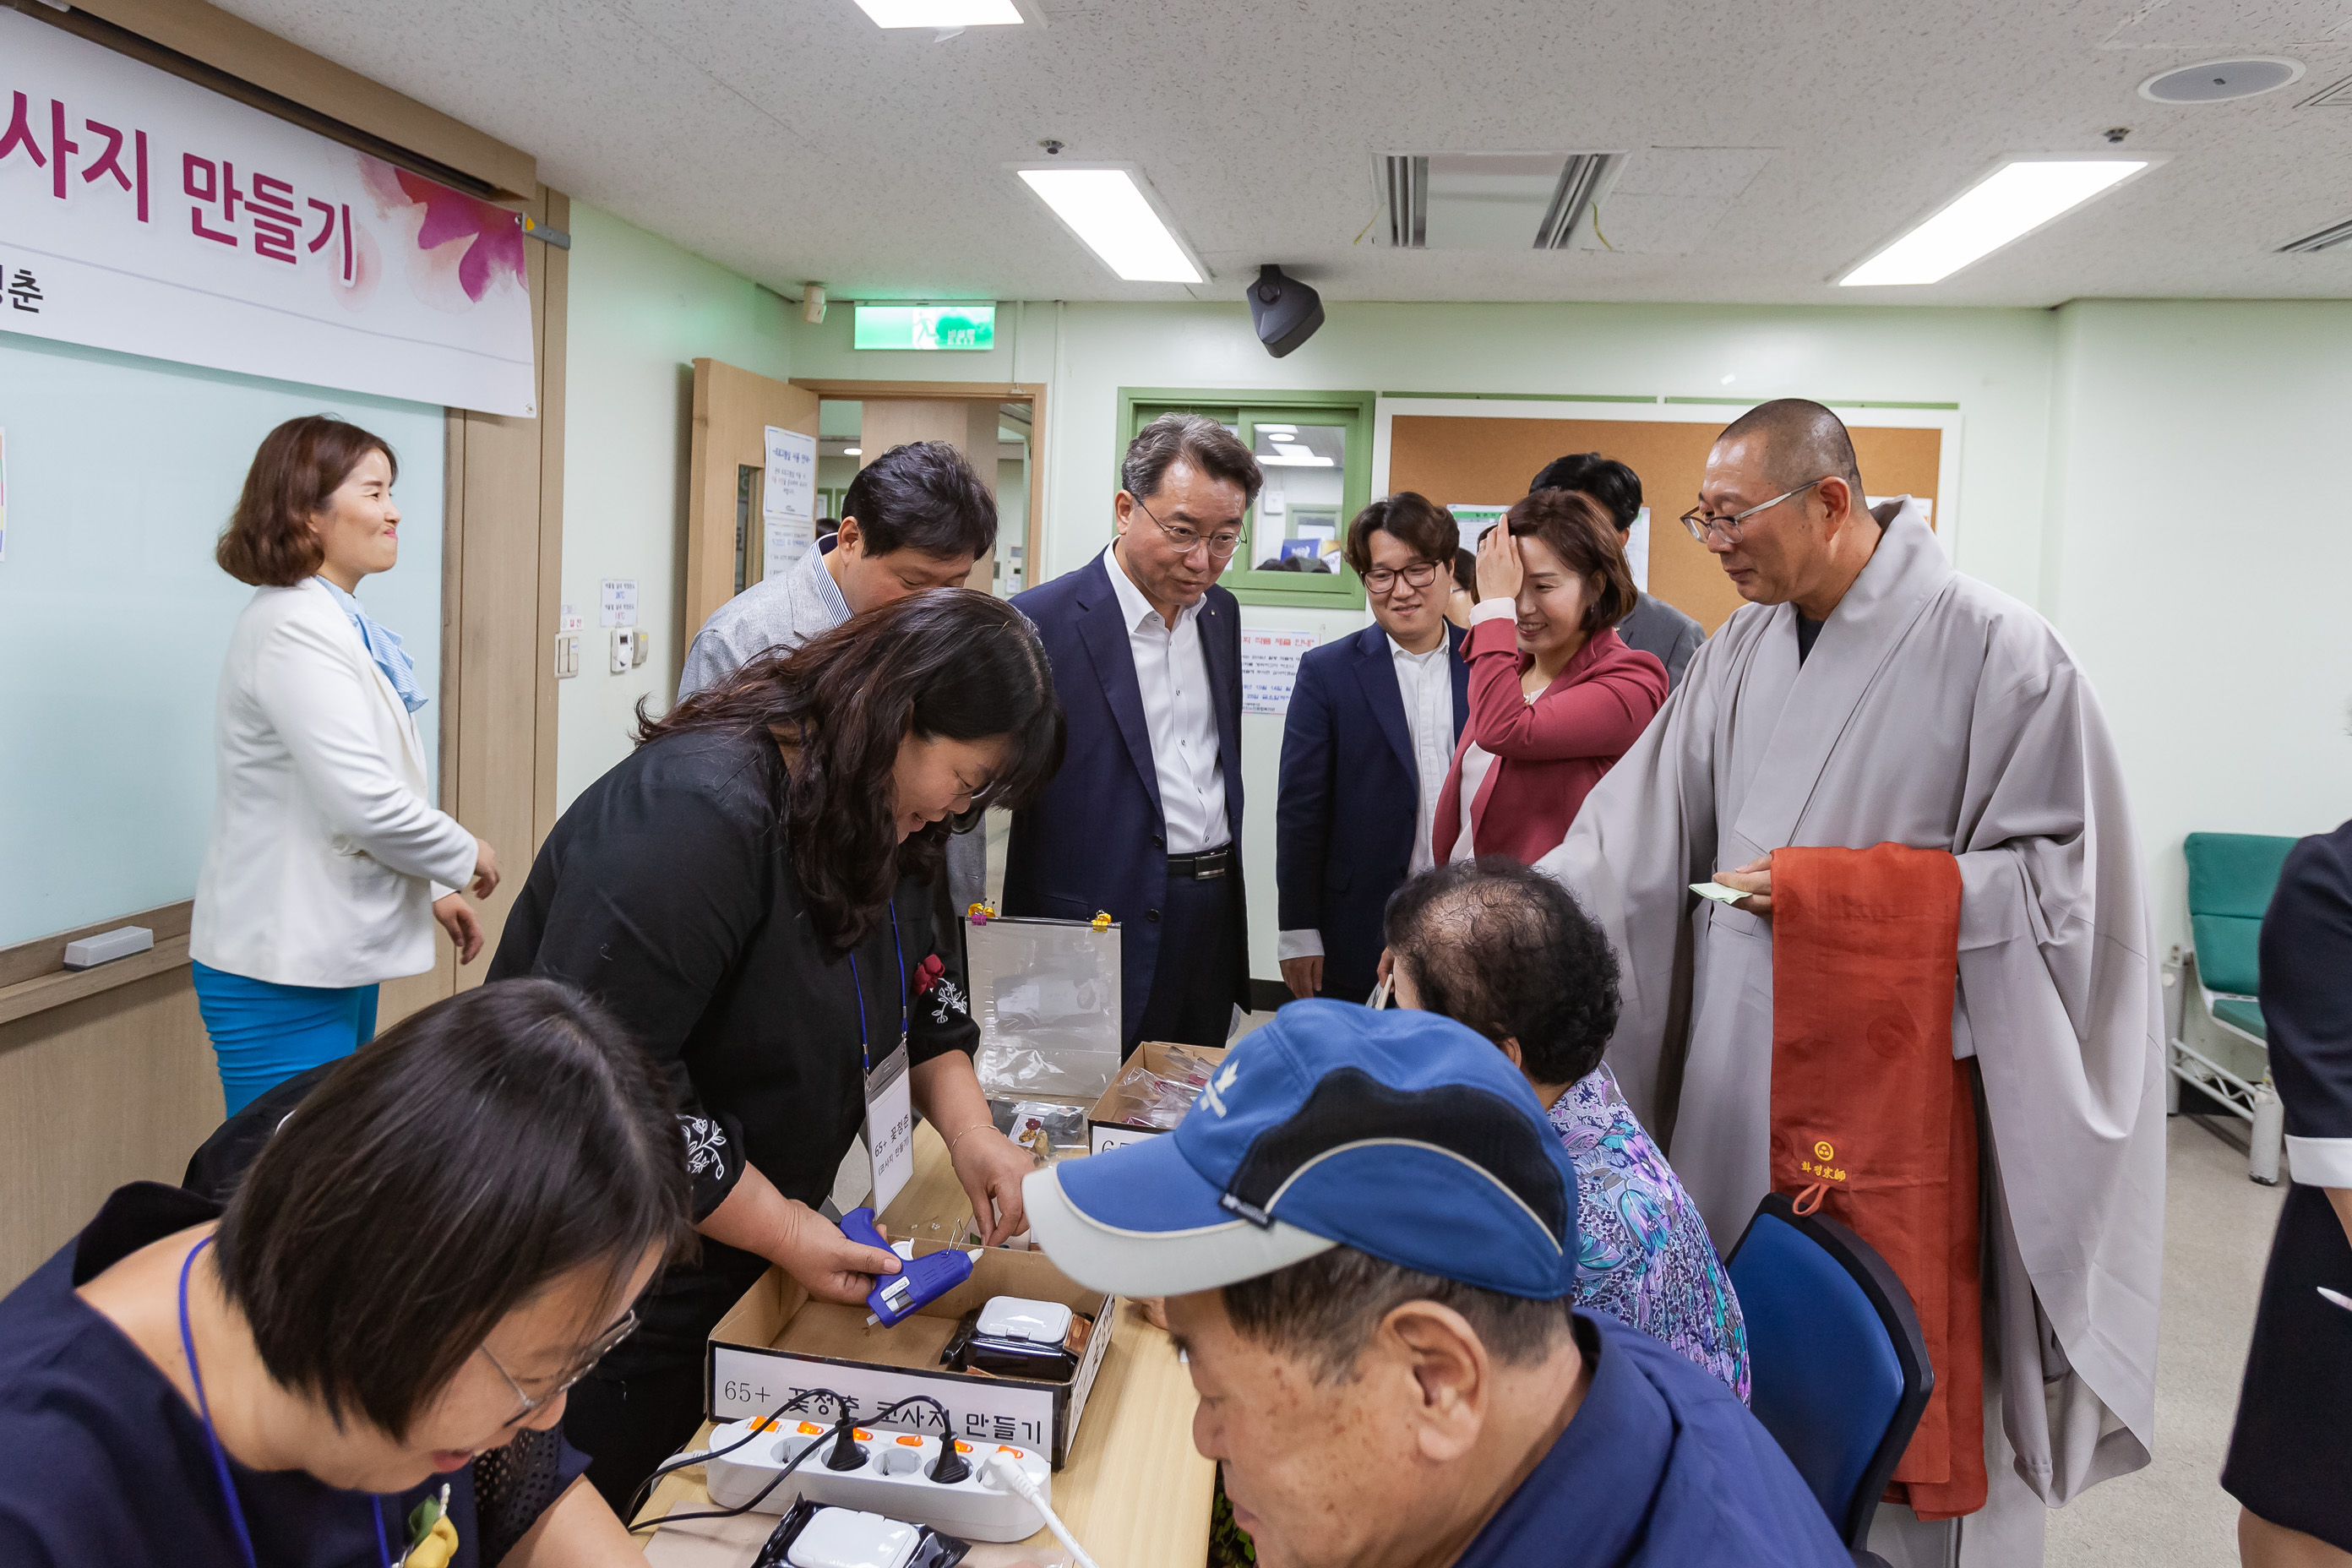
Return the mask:
[[642,1563],[555,1425],[687,1204],[656,1067],[579,992],[407,1018],[226,1208],[122,1187],[0,1300],[0,1563]]

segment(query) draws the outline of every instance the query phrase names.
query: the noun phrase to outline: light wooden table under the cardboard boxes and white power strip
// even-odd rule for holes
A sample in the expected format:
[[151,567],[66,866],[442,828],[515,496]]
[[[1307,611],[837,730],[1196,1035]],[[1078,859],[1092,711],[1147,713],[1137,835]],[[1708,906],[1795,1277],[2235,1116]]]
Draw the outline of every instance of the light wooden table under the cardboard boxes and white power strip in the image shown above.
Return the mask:
[[[915,1128],[915,1175],[898,1201],[882,1213],[891,1239],[953,1239],[971,1218],[948,1150],[924,1124]],[[936,1232],[931,1227],[938,1227]],[[1143,1321],[1131,1302],[1103,1354],[1103,1366],[1077,1422],[1070,1462],[1054,1474],[1054,1512],[1103,1568],[1202,1568],[1209,1559],[1209,1497],[1216,1467],[1192,1450],[1192,1380],[1176,1361],[1176,1345]],[[694,1436],[703,1446],[706,1422]],[[666,1476],[647,1500],[637,1523],[710,1505],[703,1469],[694,1465]],[[706,1526],[670,1526],[647,1540],[647,1559],[663,1568],[741,1568],[774,1528],[774,1514]],[[974,1547],[974,1568],[1018,1559],[1068,1561],[1068,1552],[1040,1530],[1009,1547]]]

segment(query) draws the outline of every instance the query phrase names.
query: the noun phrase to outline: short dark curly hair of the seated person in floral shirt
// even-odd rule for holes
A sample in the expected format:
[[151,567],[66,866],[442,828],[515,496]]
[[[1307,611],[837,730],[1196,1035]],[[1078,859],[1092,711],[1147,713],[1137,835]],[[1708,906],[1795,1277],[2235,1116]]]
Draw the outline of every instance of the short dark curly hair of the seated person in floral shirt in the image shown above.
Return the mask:
[[1510,856],[1421,872],[1388,900],[1383,936],[1423,1006],[1486,1039],[1519,1041],[1536,1084],[1602,1065],[1618,1016],[1618,966],[1564,886]]

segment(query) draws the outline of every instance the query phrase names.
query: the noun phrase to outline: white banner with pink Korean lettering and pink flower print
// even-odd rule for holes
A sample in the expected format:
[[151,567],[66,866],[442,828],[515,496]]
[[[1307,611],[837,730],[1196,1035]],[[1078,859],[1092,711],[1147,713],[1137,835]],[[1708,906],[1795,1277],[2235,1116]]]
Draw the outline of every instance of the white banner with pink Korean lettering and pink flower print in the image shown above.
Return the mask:
[[0,329],[539,411],[517,214],[9,9]]

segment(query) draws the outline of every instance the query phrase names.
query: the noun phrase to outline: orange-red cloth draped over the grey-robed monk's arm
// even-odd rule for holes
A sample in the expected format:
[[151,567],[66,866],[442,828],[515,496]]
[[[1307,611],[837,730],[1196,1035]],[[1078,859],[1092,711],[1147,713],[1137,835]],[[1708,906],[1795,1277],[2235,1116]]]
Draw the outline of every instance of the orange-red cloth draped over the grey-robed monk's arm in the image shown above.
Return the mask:
[[1959,863],[1929,849],[1771,858],[1771,1185],[1879,1248],[1912,1293],[1936,1392],[1889,1497],[1985,1507],[1976,1103],[1952,1060]]

